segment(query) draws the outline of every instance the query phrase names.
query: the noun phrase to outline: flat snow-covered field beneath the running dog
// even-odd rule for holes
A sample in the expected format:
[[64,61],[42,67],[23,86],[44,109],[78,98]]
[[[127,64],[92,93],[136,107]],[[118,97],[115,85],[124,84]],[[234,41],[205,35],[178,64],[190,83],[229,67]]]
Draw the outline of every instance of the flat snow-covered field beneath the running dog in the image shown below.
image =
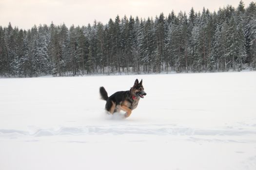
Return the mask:
[[0,79],[0,170],[256,170],[256,72]]

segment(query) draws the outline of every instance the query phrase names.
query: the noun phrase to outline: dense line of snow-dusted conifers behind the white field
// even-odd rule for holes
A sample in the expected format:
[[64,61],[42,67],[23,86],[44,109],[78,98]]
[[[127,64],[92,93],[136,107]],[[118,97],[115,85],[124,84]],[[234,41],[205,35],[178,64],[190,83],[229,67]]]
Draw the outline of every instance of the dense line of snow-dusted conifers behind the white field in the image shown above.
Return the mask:
[[69,29],[0,26],[0,76],[203,72],[256,68],[256,3],[189,15],[110,19]]

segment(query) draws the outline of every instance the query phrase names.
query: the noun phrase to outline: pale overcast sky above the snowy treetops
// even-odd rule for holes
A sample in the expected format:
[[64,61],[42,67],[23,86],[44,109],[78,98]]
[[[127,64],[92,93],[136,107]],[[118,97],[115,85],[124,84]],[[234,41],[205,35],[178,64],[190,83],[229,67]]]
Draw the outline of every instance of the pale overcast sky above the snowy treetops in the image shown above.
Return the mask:
[[[195,11],[208,8],[211,12],[228,4],[237,7],[240,0],[0,0],[0,25],[28,29],[41,24],[49,25],[65,23],[88,25],[96,19],[106,24],[117,15],[123,17],[155,17],[161,12],[167,16],[172,10],[177,14],[191,7]],[[252,0],[243,0],[245,7]]]

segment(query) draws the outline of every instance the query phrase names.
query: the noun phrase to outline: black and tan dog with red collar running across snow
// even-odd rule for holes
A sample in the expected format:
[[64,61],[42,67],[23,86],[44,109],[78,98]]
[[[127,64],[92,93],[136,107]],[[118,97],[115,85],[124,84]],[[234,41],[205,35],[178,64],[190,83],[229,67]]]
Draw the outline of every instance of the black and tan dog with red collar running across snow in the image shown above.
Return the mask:
[[144,98],[146,93],[144,92],[144,88],[142,85],[142,79],[140,83],[138,83],[138,79],[136,79],[133,87],[128,91],[118,91],[108,97],[108,93],[104,87],[99,88],[99,93],[101,95],[101,99],[107,101],[105,109],[113,114],[114,112],[120,112],[120,110],[125,111],[125,118],[128,118],[132,110],[138,106],[138,102],[140,98]]

